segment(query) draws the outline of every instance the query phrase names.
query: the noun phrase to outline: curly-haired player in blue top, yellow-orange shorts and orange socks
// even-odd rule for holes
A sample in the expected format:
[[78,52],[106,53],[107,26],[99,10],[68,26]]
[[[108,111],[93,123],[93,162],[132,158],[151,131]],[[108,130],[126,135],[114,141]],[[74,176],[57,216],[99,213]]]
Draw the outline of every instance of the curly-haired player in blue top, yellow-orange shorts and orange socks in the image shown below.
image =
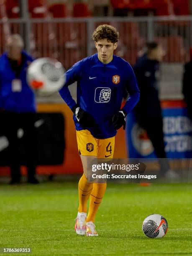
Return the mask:
[[[84,170],[78,187],[79,209],[75,224],[78,235],[86,233],[87,236],[98,236],[94,220],[106,189],[106,183],[94,183],[87,179],[87,163],[95,158],[113,158],[117,130],[122,126],[125,129],[125,117],[139,100],[133,69],[127,61],[113,55],[118,37],[116,28],[109,25],[98,26],[92,35],[97,54],[74,64],[66,72],[66,83],[59,91],[74,113],[77,145]],[[75,81],[77,103],[68,89]],[[129,97],[120,109],[125,90]]]

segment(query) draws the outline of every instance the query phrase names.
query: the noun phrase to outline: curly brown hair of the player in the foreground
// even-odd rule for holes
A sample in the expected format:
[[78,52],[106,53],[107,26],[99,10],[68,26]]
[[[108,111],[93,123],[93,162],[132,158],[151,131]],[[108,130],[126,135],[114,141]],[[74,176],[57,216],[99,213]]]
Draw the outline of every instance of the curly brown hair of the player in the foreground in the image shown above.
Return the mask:
[[107,24],[100,25],[93,32],[92,39],[97,42],[105,38],[114,44],[118,41],[119,32],[117,31],[116,28],[110,25],[107,25]]

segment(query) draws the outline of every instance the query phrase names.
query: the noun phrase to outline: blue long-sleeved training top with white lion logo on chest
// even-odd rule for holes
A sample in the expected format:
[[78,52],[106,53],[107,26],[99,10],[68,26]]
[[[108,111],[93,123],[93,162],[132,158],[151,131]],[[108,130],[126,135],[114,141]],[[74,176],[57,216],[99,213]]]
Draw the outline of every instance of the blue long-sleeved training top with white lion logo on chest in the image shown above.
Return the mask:
[[[66,82],[59,91],[69,108],[76,105],[68,86],[77,81],[77,105],[95,119],[97,129],[86,128],[95,138],[110,138],[117,131],[112,118],[120,110],[123,93],[129,97],[123,109],[129,113],[139,100],[139,89],[131,65],[124,59],[113,55],[113,60],[103,64],[97,54],[89,56],[73,65],[66,73]],[[83,130],[75,116],[77,131]]]

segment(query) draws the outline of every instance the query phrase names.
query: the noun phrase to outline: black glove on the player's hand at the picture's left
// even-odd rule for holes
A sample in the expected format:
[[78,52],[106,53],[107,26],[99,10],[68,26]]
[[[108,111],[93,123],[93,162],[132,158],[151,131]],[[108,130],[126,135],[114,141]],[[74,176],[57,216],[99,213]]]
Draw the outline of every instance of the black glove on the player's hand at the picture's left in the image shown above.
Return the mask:
[[75,105],[72,108],[72,111],[75,117],[77,118],[77,121],[83,128],[96,126],[94,118],[92,118],[92,116],[87,111],[84,111],[82,108],[79,108],[78,105]]

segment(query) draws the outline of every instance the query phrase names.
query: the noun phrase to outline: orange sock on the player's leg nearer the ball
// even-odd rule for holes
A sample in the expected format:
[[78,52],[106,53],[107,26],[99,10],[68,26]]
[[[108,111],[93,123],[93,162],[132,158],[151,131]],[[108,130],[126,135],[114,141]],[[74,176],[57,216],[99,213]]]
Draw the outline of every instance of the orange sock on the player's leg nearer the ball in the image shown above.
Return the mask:
[[87,222],[95,220],[95,215],[105,194],[107,183],[94,183],[90,195],[90,207],[87,215]]

